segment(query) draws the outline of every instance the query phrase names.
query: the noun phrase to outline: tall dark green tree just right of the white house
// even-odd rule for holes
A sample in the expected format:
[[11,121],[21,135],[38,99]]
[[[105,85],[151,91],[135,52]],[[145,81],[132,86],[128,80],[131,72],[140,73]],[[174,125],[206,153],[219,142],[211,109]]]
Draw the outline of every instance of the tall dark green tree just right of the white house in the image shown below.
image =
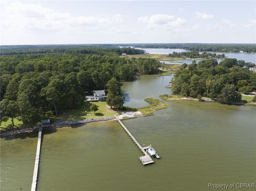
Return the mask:
[[119,81],[116,80],[116,78],[111,78],[107,82],[107,104],[110,105],[111,109],[112,107],[122,107],[124,104],[124,94],[121,91],[121,84]]

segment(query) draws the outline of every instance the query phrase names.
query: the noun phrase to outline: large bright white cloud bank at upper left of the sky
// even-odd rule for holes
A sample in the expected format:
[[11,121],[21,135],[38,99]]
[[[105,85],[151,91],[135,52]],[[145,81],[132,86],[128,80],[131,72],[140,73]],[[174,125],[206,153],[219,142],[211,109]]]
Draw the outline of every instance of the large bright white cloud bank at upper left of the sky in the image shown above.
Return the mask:
[[[86,30],[88,27],[122,22],[122,15],[105,17],[55,12],[39,4],[11,2],[2,8],[1,28],[20,31],[64,31]],[[87,29],[88,30],[88,29]]]

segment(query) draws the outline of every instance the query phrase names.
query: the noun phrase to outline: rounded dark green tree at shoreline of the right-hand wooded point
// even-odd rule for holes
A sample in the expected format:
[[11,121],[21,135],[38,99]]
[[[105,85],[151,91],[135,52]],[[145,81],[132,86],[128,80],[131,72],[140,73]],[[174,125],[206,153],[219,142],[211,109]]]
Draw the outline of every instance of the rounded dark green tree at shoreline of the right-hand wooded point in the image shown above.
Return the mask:
[[235,103],[241,102],[241,97],[241,94],[236,92],[234,85],[227,84],[222,88],[221,94],[217,96],[217,99],[220,103]]

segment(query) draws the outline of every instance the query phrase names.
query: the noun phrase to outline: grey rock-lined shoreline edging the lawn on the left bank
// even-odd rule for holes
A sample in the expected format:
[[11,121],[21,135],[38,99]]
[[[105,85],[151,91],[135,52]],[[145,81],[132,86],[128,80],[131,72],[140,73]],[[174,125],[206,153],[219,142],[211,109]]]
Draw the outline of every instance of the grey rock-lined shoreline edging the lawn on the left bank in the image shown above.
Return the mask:
[[[137,116],[133,117],[127,117],[121,120],[126,120],[126,119],[134,119],[137,118]],[[50,128],[58,128],[58,127],[63,127],[63,126],[73,126],[76,124],[86,124],[86,123],[93,123],[93,122],[101,122],[101,121],[111,121],[115,120],[115,117],[109,117],[109,118],[98,118],[98,119],[84,119],[84,120],[75,120],[75,121],[59,121],[52,123]],[[15,130],[7,130],[4,132],[0,132],[0,136],[9,136],[9,135],[15,135],[15,134],[20,134],[20,133],[25,133],[25,132],[33,132],[36,131],[39,128],[39,126],[35,127],[30,127],[30,128],[22,128],[22,129],[15,129]]]

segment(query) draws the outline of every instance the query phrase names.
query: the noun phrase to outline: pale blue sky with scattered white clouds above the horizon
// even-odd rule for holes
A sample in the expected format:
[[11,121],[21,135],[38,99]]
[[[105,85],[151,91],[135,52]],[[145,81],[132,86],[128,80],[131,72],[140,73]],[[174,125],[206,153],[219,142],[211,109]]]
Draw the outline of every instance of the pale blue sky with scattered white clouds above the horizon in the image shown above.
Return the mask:
[[2,1],[1,44],[256,43],[255,1]]

